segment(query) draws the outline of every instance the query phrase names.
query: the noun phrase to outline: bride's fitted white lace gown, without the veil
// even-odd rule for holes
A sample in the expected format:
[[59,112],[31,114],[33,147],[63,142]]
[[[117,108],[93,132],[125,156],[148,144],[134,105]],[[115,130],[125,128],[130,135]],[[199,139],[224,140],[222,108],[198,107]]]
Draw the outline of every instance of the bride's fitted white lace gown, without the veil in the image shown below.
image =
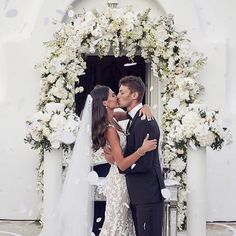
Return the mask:
[[[120,131],[118,134],[121,148],[124,149],[126,136]],[[99,236],[135,236],[125,175],[119,173],[116,164],[111,165],[106,177],[104,194],[105,221]]]

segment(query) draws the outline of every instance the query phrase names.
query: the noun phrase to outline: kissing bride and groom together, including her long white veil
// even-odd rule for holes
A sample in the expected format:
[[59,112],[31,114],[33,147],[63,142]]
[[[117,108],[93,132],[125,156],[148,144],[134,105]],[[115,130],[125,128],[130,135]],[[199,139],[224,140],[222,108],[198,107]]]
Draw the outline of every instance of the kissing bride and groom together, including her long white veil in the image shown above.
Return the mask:
[[[104,149],[111,164],[106,177],[105,221],[99,236],[161,236],[165,188],[155,119],[142,105],[145,85],[123,77],[119,93],[96,86],[88,95],[81,126],[56,210],[40,236],[88,236],[93,225],[93,187],[88,184],[92,151]],[[115,112],[118,107],[127,112]],[[129,118],[124,131],[117,121]]]

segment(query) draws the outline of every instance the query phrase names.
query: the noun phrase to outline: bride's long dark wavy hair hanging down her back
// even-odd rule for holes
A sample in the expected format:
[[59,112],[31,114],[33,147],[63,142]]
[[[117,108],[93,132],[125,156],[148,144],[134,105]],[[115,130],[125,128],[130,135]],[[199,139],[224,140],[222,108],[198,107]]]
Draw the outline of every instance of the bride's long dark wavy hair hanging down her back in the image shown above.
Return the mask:
[[108,99],[109,87],[97,85],[91,91],[93,98],[92,106],[92,141],[93,149],[97,151],[106,144],[105,133],[107,132],[108,119],[107,110],[103,105],[103,101]]

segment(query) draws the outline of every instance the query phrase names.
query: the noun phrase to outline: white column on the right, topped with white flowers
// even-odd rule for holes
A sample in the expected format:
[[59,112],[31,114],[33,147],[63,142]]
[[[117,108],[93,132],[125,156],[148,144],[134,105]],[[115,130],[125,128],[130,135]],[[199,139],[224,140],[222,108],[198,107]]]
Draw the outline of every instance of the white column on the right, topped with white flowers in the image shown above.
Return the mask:
[[206,235],[206,148],[188,150],[187,235]]

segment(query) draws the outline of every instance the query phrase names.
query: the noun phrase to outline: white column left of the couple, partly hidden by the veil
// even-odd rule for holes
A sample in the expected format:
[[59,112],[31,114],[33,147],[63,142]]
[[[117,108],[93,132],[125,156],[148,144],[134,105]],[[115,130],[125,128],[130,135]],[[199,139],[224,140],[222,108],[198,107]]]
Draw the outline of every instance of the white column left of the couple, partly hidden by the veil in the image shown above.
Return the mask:
[[62,189],[62,157],[61,149],[52,149],[44,153],[44,201],[43,221],[47,219],[59,199]]

